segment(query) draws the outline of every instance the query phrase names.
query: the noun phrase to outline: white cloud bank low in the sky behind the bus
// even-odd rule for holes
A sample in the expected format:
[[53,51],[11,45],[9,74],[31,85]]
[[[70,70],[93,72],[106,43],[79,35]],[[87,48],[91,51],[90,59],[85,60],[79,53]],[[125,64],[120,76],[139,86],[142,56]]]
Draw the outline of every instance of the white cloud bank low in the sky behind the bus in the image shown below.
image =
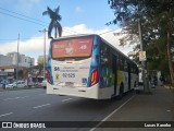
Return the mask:
[[[88,28],[85,24],[79,24],[73,27],[64,27],[63,36],[76,35],[76,34],[98,34],[103,39],[108,40],[113,46],[115,46],[117,49],[120,49],[122,52],[127,55],[127,52],[129,52],[132,48],[128,46],[120,47],[119,39],[121,36],[114,36],[113,35],[114,32],[119,32],[119,31],[110,32],[109,28],[101,28],[101,29],[95,31],[92,28]],[[50,43],[50,39],[47,38],[46,40],[47,53],[49,49],[49,43]],[[12,51],[15,51],[15,52],[17,51],[17,40],[9,41],[9,43],[2,43],[2,41],[0,43],[0,53],[7,55],[8,52],[12,52]],[[44,36],[41,35],[34,36],[26,40],[21,39],[20,40],[20,53],[24,53],[37,60],[38,56],[44,55]]]

